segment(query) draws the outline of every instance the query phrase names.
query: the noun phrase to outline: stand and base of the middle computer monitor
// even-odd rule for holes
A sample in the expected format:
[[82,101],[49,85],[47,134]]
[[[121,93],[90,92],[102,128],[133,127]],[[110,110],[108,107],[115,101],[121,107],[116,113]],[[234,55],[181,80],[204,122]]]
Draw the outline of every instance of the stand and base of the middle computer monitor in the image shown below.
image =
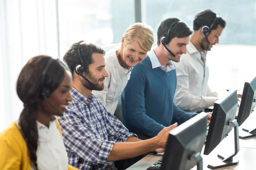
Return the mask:
[[229,122],[229,126],[234,128],[234,134],[235,134],[235,153],[232,153],[227,158],[224,158],[224,157],[218,155],[218,157],[220,159],[222,159],[222,161],[218,161],[214,165],[213,164],[211,164],[211,165],[209,164],[207,167],[209,169],[211,169],[211,170],[215,170],[215,169],[222,168],[222,167],[229,167],[229,166],[237,165],[239,163],[239,160],[233,159],[233,157],[236,156],[236,154],[239,152],[238,123],[236,122],[236,120],[232,119]]

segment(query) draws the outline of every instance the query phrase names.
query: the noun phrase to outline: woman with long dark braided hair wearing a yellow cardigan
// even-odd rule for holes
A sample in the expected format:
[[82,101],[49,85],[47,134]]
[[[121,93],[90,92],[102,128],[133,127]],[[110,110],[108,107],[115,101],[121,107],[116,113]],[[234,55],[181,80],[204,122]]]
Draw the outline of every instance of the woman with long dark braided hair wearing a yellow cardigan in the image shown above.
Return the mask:
[[71,85],[72,74],[63,62],[49,56],[27,62],[17,80],[24,108],[0,133],[0,170],[77,170],[68,165],[55,119],[72,101]]

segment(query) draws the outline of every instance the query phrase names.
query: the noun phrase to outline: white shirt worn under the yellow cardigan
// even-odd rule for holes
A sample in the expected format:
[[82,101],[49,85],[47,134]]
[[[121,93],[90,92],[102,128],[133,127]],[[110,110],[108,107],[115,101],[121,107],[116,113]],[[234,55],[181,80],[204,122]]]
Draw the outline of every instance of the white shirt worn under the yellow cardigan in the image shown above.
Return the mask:
[[38,149],[36,155],[38,170],[67,170],[67,151],[56,122],[49,122],[48,128],[37,121],[37,128]]

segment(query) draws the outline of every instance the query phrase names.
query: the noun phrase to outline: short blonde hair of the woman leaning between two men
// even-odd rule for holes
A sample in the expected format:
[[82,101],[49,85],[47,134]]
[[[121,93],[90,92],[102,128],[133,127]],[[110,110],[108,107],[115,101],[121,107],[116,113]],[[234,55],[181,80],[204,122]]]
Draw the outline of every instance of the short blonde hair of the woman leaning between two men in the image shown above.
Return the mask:
[[[152,45],[154,44],[153,29],[145,23],[135,23],[129,26],[123,37],[125,37],[125,44],[137,41],[140,44],[140,48],[145,51],[151,51]],[[122,51],[122,49],[120,50]]]

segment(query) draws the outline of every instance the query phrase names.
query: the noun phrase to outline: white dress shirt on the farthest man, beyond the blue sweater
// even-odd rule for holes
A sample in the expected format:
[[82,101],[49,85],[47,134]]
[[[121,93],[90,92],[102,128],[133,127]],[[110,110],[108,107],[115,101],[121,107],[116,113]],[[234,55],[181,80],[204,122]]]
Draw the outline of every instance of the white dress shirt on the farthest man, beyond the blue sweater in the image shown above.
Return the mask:
[[213,106],[218,94],[208,86],[207,52],[199,52],[191,41],[186,48],[187,53],[175,63],[177,88],[174,103],[185,111],[199,111]]

